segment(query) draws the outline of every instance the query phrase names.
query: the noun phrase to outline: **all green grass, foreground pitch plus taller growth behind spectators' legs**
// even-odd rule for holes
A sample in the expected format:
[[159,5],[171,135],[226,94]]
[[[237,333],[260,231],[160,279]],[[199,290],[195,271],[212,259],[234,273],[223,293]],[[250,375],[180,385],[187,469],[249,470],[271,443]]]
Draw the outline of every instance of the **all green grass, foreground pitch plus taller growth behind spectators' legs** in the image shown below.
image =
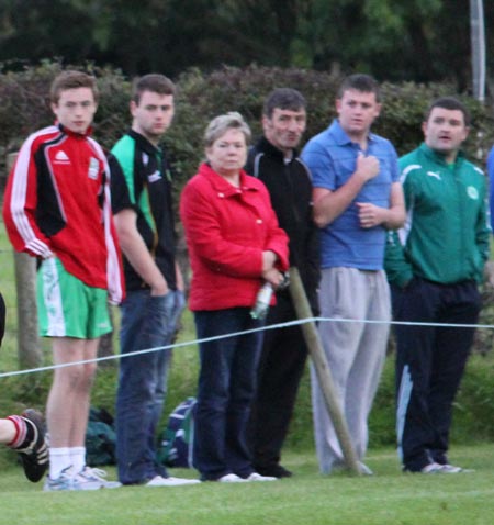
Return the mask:
[[[0,290],[8,300],[8,333],[0,353],[0,370],[16,370],[15,292],[11,250],[0,224]],[[117,315],[116,315],[117,319]],[[194,338],[190,315],[181,340]],[[116,337],[115,337],[116,340]],[[50,351],[46,343],[46,364]],[[115,348],[117,346],[115,345]],[[457,442],[487,439],[494,421],[494,358],[474,356],[456,406]],[[197,381],[194,347],[178,350],[169,381],[167,411]],[[0,416],[26,404],[43,409],[50,372],[0,379]],[[93,404],[113,409],[116,361],[101,367]],[[295,472],[272,483],[202,483],[179,488],[121,488],[97,492],[44,493],[42,483],[25,480],[15,455],[0,447],[0,522],[13,524],[178,524],[178,525],[491,525],[494,523],[494,445],[453,444],[450,460],[473,472],[449,476],[403,474],[395,451],[375,446],[394,437],[392,361],[381,382],[371,416],[371,448],[367,463],[373,477],[346,473],[323,477],[312,449],[308,381],[302,382],[283,465]],[[460,423],[460,424],[459,424]],[[490,426],[490,428],[484,428]],[[391,438],[389,437],[391,435]],[[388,440],[386,440],[388,439]],[[170,471],[195,477],[194,471]],[[115,479],[114,468],[109,469]]]

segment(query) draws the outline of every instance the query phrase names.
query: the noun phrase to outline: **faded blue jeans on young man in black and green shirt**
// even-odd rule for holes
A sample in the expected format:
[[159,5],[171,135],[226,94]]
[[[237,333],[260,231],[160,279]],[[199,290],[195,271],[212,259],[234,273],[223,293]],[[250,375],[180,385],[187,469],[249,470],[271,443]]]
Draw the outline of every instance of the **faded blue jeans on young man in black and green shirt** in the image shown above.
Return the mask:
[[[122,303],[122,355],[169,345],[184,306],[183,293],[151,297],[149,290],[127,292]],[[116,457],[124,484],[167,476],[156,461],[156,427],[161,417],[171,350],[157,350],[120,362],[116,393]]]

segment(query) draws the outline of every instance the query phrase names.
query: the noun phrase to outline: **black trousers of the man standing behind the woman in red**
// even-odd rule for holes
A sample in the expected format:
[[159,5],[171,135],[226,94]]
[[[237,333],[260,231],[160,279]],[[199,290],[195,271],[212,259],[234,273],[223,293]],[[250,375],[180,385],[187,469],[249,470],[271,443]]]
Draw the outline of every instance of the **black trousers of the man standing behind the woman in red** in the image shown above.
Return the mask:
[[[277,301],[270,309],[267,325],[296,319],[288,290],[280,293]],[[300,326],[265,332],[249,423],[255,468],[273,467],[280,461],[306,357]]]

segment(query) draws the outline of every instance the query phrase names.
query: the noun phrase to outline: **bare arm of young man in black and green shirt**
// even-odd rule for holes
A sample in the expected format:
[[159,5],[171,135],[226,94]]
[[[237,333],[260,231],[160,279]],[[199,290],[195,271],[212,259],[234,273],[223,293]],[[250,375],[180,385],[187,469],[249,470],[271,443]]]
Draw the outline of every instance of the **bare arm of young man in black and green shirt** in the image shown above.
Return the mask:
[[134,270],[150,287],[151,295],[166,295],[167,281],[138,233],[136,221],[137,214],[132,209],[122,210],[114,216],[120,246]]

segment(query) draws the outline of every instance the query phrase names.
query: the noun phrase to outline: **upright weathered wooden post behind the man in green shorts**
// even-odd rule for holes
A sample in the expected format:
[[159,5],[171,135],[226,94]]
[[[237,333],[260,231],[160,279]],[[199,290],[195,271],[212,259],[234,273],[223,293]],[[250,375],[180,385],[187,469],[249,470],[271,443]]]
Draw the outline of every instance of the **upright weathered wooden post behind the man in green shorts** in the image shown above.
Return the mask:
[[[8,171],[18,154],[7,157]],[[18,294],[18,359],[19,367],[36,368],[43,364],[43,351],[37,334],[36,259],[14,252],[15,291]]]

